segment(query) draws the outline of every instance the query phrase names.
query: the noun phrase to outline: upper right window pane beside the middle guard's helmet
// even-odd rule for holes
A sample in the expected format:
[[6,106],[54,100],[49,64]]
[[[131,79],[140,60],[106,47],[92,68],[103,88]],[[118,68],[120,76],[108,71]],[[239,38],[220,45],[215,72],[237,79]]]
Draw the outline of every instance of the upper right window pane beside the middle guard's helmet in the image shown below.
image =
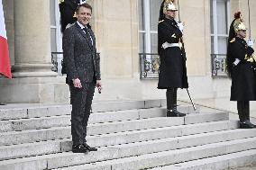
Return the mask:
[[151,31],[157,31],[157,29],[158,29],[161,2],[162,2],[162,0],[150,0],[150,4],[151,4]]

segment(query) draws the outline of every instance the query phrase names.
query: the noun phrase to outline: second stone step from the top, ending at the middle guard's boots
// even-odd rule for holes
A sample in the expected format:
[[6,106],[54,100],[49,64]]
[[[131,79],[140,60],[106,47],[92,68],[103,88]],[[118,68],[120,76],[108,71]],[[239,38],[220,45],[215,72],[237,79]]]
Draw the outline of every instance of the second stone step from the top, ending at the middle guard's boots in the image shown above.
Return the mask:
[[[89,123],[163,117],[165,116],[165,112],[164,108],[127,110],[119,112],[96,112],[91,114]],[[38,130],[51,127],[69,126],[70,124],[70,115],[0,121],[0,132]]]

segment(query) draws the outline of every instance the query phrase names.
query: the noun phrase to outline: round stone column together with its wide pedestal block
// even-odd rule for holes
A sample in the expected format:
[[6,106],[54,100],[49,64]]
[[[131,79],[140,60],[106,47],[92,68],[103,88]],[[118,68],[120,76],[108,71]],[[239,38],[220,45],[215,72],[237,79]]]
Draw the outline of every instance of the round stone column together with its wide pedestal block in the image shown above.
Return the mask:
[[69,102],[65,76],[51,71],[50,1],[14,0],[14,78],[0,78],[0,103]]

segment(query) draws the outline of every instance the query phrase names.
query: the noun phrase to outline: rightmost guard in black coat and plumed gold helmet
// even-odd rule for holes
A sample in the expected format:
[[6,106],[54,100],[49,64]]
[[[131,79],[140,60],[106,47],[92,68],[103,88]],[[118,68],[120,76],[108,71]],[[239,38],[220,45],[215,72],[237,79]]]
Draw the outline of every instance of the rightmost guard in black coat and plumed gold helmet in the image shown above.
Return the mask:
[[231,101],[237,101],[240,128],[256,126],[250,122],[250,101],[256,101],[256,63],[252,54],[253,42],[247,43],[246,27],[240,12],[234,14],[227,47],[227,72],[232,78]]

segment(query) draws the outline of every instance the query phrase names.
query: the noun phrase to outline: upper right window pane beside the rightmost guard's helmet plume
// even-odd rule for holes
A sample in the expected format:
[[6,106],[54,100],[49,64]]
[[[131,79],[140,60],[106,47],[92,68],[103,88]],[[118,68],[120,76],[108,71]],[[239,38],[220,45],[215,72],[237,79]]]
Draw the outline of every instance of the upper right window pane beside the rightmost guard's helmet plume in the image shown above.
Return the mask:
[[217,0],[217,32],[218,34],[227,34],[227,21],[226,21],[226,1]]

